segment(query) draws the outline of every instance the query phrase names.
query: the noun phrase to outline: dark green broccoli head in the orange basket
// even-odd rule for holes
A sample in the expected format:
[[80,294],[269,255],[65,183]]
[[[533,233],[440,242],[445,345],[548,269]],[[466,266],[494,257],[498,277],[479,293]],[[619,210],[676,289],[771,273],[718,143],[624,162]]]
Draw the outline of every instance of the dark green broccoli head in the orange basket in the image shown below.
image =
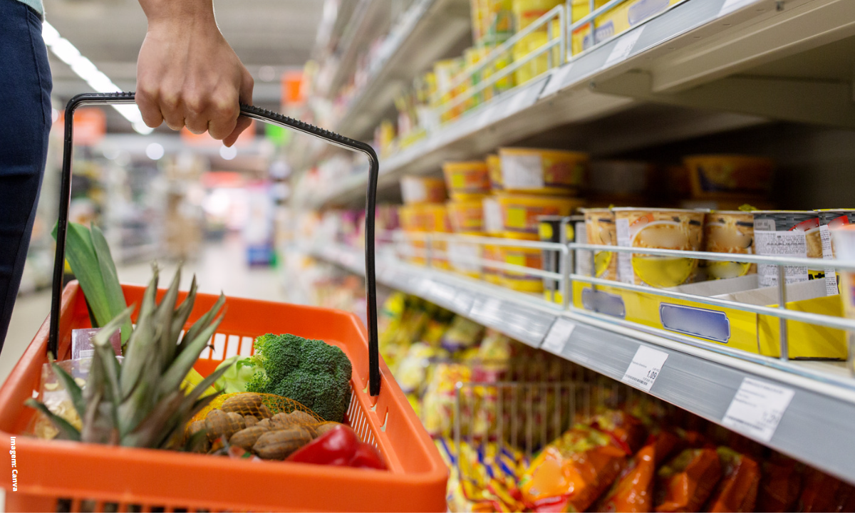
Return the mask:
[[259,369],[247,392],[292,398],[327,421],[342,422],[351,401],[351,361],[323,340],[268,333],[255,341]]

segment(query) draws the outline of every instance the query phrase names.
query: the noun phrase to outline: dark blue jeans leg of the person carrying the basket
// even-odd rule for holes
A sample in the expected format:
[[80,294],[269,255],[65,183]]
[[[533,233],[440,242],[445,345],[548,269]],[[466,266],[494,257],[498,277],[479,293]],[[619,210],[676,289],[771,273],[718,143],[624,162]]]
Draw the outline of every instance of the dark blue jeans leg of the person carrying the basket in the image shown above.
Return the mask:
[[42,186],[52,86],[39,16],[16,0],[0,0],[0,350]]

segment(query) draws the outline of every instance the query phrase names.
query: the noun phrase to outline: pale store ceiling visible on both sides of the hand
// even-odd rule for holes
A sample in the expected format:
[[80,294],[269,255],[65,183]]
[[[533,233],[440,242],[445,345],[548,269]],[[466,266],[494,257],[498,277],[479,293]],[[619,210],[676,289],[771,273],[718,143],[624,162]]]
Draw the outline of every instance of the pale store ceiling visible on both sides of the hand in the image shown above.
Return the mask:
[[[146,29],[137,0],[44,0],[44,4],[47,21],[62,37],[121,89],[133,91]],[[302,68],[309,59],[323,0],[214,0],[214,4],[223,35],[256,80],[254,103],[280,109],[280,75],[289,68]],[[50,68],[55,97],[62,103],[91,91],[52,55]],[[131,128],[121,116],[111,115],[109,125]]]

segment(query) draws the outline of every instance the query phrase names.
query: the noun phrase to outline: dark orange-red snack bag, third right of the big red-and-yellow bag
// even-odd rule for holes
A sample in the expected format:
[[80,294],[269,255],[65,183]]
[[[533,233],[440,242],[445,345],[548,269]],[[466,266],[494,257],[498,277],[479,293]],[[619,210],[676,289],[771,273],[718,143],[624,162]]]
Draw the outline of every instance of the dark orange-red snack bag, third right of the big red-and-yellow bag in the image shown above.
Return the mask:
[[753,511],[760,486],[760,467],[752,458],[728,447],[719,447],[722,481],[712,494],[707,511]]

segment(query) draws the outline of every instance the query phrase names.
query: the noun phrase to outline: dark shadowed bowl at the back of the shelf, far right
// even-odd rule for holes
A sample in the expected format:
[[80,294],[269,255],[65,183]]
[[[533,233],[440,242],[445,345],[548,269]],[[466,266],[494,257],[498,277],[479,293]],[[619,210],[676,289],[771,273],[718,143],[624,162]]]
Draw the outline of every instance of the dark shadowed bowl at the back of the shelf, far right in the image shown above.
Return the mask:
[[694,155],[683,163],[693,198],[765,198],[775,172],[775,162],[762,156]]

